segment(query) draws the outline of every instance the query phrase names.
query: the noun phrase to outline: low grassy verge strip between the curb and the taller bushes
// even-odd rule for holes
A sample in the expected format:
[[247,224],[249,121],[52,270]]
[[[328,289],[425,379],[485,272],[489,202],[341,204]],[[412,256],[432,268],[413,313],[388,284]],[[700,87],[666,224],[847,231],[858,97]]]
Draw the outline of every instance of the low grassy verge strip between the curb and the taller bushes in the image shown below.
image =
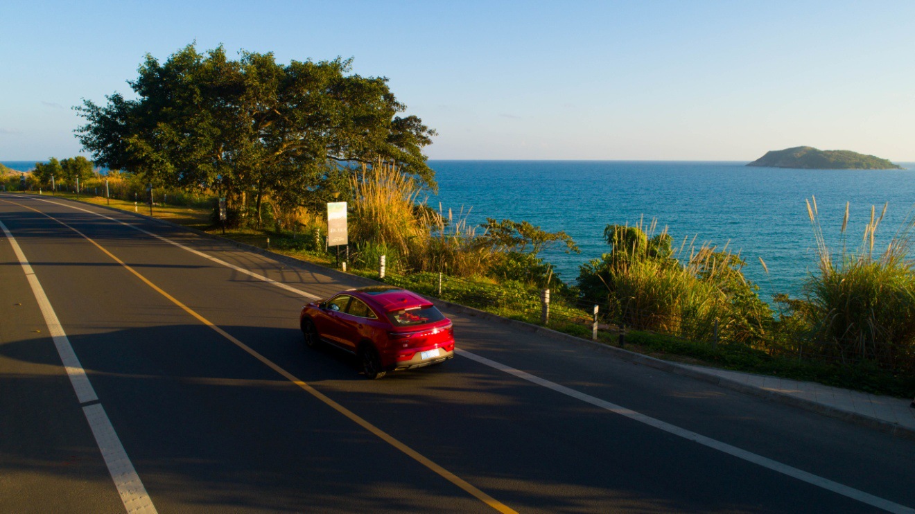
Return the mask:
[[[50,195],[45,195],[50,196]],[[72,193],[57,193],[59,198],[79,199],[80,201],[106,205],[101,197],[77,198]],[[112,199],[110,207],[134,211],[134,202]],[[148,215],[148,205],[139,204],[136,211]],[[301,238],[288,233],[271,230],[226,230],[222,234],[219,227],[210,221],[210,210],[177,206],[154,206],[153,217],[168,220],[190,228],[218,234],[233,241],[240,241],[260,248],[267,248],[270,241],[272,252],[295,257],[305,262],[333,265],[335,256],[323,249],[314,249]],[[378,279],[377,270],[350,270],[372,279]],[[540,324],[540,300],[530,290],[521,285],[493,284],[488,280],[465,280],[444,276],[441,294],[438,293],[438,273],[414,273],[410,275],[389,274],[384,282],[405,287],[421,294],[440,297],[443,300],[485,310],[497,316],[517,319],[527,323]],[[587,313],[556,303],[551,305],[550,328],[576,337],[590,338],[591,328],[587,323]],[[618,345],[619,338],[615,332],[601,330],[598,341],[608,345]],[[626,349],[651,357],[696,364],[721,369],[732,369],[793,380],[808,380],[875,394],[888,394],[900,398],[910,398],[915,390],[915,377],[894,374],[876,366],[856,365],[841,366],[806,359],[772,356],[769,353],[743,345],[719,345],[712,348],[705,343],[669,337],[651,332],[630,331],[626,334]]]

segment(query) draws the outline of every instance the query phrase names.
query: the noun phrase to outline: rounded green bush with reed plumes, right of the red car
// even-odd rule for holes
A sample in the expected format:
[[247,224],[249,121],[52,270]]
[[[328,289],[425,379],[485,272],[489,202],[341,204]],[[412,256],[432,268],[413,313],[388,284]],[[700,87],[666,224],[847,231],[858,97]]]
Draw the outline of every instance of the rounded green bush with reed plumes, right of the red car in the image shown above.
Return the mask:
[[766,337],[772,318],[748,282],[744,262],[726,251],[703,246],[676,259],[672,238],[662,231],[608,225],[611,252],[580,267],[578,287],[584,300],[606,303],[611,316],[630,327],[647,328],[696,340],[718,336],[751,344]]

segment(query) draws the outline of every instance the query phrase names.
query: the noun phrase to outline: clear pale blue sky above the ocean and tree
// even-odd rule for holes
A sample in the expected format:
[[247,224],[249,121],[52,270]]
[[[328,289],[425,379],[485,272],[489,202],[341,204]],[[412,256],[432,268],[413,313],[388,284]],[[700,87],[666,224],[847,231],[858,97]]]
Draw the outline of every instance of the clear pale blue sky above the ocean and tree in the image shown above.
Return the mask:
[[353,57],[433,159],[915,161],[915,2],[8,2],[0,160],[80,152],[70,108],[192,41]]

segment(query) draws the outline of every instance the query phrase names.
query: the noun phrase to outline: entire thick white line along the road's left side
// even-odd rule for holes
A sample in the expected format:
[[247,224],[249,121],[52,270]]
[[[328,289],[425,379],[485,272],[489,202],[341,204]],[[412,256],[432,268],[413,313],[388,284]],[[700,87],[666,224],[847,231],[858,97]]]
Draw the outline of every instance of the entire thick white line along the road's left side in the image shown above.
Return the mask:
[[[6,239],[9,241],[10,246],[13,247],[13,252],[16,253],[16,259],[19,260],[19,264],[26,272],[26,278],[32,288],[32,294],[35,294],[35,299],[38,300],[41,315],[45,317],[45,324],[48,325],[48,333],[54,339],[54,346],[58,349],[60,361],[63,362],[63,367],[67,370],[70,384],[73,386],[73,391],[76,391],[78,401],[81,404],[97,401],[99,397],[96,396],[95,390],[89,382],[89,377],[86,376],[86,370],[80,364],[80,359],[76,358],[76,353],[73,352],[73,347],[70,346],[70,338],[67,337],[63,327],[60,326],[58,316],[48,301],[48,295],[45,294],[44,288],[38,282],[38,276],[32,270],[32,265],[28,263],[26,255],[19,247],[19,243],[9,229],[6,228],[3,221],[0,221],[0,229],[3,229]],[[82,408],[82,412],[85,414],[86,421],[92,429],[92,435],[95,436],[95,443],[99,445],[105,466],[108,466],[108,473],[114,480],[114,486],[117,487],[118,495],[121,496],[121,501],[124,502],[124,508],[127,509],[127,512],[156,514],[153,500],[146,494],[143,482],[140,481],[140,476],[136,474],[134,465],[131,464],[130,458],[127,457],[124,445],[121,444],[117,433],[114,432],[114,427],[111,421],[108,420],[108,415],[102,409],[102,404],[87,405]]]

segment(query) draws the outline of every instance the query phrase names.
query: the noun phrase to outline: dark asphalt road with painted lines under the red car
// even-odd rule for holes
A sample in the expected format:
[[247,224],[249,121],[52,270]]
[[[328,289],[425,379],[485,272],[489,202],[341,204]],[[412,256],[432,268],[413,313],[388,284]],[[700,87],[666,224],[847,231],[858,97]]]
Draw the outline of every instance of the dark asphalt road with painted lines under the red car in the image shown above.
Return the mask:
[[912,441],[447,311],[463,354],[365,380],[297,325],[359,278],[56,198],[0,195],[0,223],[34,270],[0,231],[2,512],[915,506]]

